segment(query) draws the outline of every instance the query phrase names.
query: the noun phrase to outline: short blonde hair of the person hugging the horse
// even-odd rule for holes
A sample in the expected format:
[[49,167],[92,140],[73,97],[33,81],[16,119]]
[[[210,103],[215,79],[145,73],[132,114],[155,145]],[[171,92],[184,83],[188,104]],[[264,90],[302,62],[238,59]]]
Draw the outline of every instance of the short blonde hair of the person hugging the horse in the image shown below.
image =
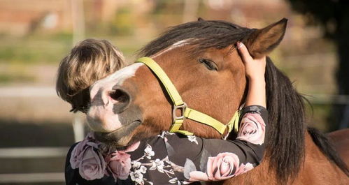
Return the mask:
[[122,66],[124,56],[108,40],[83,40],[59,64],[57,95],[71,104],[71,111],[86,112],[90,85]]

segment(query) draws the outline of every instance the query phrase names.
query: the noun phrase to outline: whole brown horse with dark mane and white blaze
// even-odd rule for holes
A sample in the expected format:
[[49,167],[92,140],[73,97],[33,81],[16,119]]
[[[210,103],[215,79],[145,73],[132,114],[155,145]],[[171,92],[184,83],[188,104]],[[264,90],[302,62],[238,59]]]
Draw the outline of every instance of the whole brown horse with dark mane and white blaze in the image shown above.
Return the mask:
[[[283,19],[264,29],[248,29],[224,21],[188,22],[166,31],[141,54],[157,61],[190,108],[227,123],[248,91],[236,42],[261,57],[280,43],[286,24]],[[264,161],[244,175],[213,184],[349,184],[348,168],[325,135],[306,128],[303,97],[269,58],[265,77],[269,127]],[[87,117],[103,142],[124,147],[169,131],[171,101],[144,64],[131,64],[99,80],[90,94]],[[190,119],[183,130],[220,138],[213,128]]]

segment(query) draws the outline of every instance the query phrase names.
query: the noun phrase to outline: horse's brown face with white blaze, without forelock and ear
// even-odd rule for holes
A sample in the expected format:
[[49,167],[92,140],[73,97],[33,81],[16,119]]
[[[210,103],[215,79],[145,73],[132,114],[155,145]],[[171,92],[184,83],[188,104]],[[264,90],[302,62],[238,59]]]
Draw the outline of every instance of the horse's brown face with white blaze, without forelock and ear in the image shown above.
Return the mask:
[[[243,61],[233,45],[192,55],[187,51],[197,45],[186,42],[190,40],[175,43],[152,59],[166,72],[188,107],[227,123],[245,93]],[[163,88],[150,69],[140,63],[97,81],[91,87],[87,113],[97,139],[123,147],[168,131],[172,103]],[[220,136],[213,128],[190,119],[185,119],[183,129],[206,138]]]

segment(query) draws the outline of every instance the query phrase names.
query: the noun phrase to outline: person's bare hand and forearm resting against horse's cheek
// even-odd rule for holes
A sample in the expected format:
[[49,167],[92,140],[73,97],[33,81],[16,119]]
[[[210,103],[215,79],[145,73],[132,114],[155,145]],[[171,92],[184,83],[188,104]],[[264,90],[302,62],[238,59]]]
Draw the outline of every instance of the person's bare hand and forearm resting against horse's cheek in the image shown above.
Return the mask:
[[245,73],[248,77],[248,94],[245,106],[261,105],[266,108],[266,91],[264,73],[266,67],[266,57],[253,59],[245,45],[237,43],[238,52],[241,54],[245,64]]

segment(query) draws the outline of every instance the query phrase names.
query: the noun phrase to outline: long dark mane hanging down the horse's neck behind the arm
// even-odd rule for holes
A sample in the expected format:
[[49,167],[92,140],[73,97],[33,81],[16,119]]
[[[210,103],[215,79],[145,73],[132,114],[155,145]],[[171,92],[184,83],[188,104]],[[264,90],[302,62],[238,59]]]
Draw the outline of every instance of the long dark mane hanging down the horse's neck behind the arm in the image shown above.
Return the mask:
[[266,107],[269,111],[266,156],[271,161],[269,167],[277,169],[278,179],[287,180],[296,177],[304,159],[303,97],[269,57],[266,62]]

